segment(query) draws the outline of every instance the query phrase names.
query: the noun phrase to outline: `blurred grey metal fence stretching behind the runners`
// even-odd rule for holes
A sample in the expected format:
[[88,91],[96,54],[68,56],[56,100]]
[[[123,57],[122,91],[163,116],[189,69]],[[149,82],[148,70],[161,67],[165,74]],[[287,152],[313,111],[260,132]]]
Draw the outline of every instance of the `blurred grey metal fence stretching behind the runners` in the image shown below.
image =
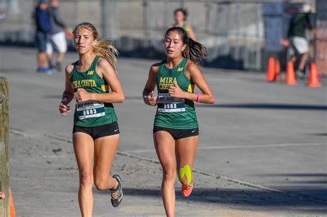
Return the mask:
[[[112,39],[120,52],[147,57],[163,54],[164,32],[174,23],[172,12],[184,7],[189,12],[186,22],[208,48],[208,65],[261,70],[264,2],[63,0],[59,6],[68,26],[88,21],[95,24],[101,37]],[[307,2],[313,4],[313,0]],[[36,4],[37,0],[0,0],[0,12],[6,12],[0,20],[1,43],[34,42],[32,13]]]

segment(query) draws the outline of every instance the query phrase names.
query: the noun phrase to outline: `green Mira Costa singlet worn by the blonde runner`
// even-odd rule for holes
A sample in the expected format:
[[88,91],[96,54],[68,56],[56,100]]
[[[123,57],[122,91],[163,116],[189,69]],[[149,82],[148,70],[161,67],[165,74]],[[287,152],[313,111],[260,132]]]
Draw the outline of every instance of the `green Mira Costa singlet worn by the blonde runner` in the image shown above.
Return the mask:
[[[95,71],[99,56],[95,56],[92,65],[86,72],[78,72],[77,64],[74,63],[72,70],[72,76],[70,82],[74,92],[77,89],[83,88],[90,93],[108,93],[109,85],[105,79],[101,77]],[[74,125],[80,127],[96,127],[106,125],[117,121],[114,106],[112,103],[103,103],[96,101],[87,101],[83,103],[77,103],[74,114]]]

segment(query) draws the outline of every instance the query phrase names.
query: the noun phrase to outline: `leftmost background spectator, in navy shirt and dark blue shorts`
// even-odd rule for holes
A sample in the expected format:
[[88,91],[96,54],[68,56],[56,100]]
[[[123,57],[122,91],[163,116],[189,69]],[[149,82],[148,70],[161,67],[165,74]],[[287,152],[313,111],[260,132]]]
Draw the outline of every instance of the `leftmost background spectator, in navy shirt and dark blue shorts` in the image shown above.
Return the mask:
[[37,45],[37,72],[52,74],[52,70],[48,67],[46,56],[46,45],[51,36],[51,23],[48,14],[48,1],[39,0],[35,9],[35,23],[37,25],[37,33],[35,35],[35,43]]

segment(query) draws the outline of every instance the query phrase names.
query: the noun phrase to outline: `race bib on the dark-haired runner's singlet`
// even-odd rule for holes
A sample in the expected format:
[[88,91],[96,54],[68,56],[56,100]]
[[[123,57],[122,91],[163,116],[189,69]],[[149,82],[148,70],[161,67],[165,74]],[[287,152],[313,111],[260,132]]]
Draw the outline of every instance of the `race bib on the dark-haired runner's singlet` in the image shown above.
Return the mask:
[[158,95],[158,112],[184,112],[184,98],[170,96],[167,93],[159,93]]

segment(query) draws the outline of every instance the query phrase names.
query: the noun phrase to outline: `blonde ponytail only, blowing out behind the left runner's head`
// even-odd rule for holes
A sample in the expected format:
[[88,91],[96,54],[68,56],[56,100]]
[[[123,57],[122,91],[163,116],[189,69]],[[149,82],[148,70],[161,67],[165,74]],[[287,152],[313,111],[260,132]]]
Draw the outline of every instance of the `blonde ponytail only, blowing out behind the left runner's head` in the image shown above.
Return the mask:
[[109,39],[100,39],[99,41],[97,41],[97,43],[93,47],[93,52],[95,52],[97,56],[106,59],[110,63],[112,68],[114,68],[114,70],[116,71],[116,56],[118,54],[118,51],[114,47],[114,45],[112,45]]

